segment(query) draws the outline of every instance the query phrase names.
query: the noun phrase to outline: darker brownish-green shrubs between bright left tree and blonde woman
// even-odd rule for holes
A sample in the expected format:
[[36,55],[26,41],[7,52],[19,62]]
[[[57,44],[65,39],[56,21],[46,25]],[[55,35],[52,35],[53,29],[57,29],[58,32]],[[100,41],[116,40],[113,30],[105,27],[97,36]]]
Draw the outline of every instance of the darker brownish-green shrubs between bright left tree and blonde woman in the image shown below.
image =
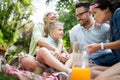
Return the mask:
[[20,52],[28,53],[29,52],[29,46],[31,41],[31,34],[32,34],[32,28],[34,26],[33,22],[28,21],[24,25],[24,27],[19,28],[20,36],[17,39],[17,41],[9,48],[6,58],[7,63],[11,65],[17,65],[18,63],[18,54]]

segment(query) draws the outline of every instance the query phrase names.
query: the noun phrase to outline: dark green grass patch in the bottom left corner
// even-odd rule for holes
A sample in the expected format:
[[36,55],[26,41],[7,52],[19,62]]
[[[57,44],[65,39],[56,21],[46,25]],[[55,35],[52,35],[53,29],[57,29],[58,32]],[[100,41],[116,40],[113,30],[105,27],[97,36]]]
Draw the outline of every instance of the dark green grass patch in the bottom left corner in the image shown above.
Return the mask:
[[9,75],[4,72],[0,72],[0,80],[18,80],[16,75]]

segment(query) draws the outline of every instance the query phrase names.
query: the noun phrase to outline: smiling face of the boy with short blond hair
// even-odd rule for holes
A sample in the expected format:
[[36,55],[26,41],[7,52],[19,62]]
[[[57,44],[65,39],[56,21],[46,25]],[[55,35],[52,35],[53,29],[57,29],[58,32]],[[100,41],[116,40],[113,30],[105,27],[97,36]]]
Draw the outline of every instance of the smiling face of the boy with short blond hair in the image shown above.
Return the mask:
[[50,31],[50,35],[55,41],[58,39],[62,39],[64,35],[63,26],[58,25],[55,29]]

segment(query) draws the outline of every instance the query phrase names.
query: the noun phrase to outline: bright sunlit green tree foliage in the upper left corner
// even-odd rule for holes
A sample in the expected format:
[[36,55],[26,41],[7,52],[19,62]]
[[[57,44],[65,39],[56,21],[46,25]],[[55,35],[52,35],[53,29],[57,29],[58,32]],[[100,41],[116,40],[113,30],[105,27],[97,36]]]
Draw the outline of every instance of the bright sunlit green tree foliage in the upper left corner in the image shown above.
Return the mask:
[[18,38],[18,28],[31,14],[31,0],[0,1],[0,45],[6,47]]

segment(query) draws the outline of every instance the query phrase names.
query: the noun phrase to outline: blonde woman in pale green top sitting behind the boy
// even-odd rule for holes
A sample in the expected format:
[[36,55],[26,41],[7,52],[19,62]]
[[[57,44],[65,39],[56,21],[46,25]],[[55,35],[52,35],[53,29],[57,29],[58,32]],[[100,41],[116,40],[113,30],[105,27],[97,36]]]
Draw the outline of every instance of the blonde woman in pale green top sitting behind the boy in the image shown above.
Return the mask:
[[[59,48],[53,46],[52,44],[49,44],[47,41],[44,40],[44,36],[48,36],[48,25],[51,22],[58,21],[58,14],[54,12],[48,12],[47,14],[45,14],[43,20],[45,23],[44,27],[43,25],[42,26],[36,25],[33,29],[33,34],[32,34],[31,44],[30,44],[30,51],[29,51],[30,55],[24,58],[20,57],[20,62],[24,68],[29,69],[31,71],[35,71],[36,69],[41,70],[41,68],[42,68],[42,71],[44,71],[43,69],[45,68],[45,66],[40,64],[40,63],[43,63],[40,60],[42,57],[42,59],[45,62],[45,65],[53,67],[58,71],[63,71],[67,73],[70,71],[70,69],[64,66],[59,61],[59,59],[61,58],[59,54],[61,53],[61,51],[59,50]],[[53,51],[54,55],[52,55],[50,51]],[[37,60],[39,62],[31,56],[35,54],[37,55]]]

